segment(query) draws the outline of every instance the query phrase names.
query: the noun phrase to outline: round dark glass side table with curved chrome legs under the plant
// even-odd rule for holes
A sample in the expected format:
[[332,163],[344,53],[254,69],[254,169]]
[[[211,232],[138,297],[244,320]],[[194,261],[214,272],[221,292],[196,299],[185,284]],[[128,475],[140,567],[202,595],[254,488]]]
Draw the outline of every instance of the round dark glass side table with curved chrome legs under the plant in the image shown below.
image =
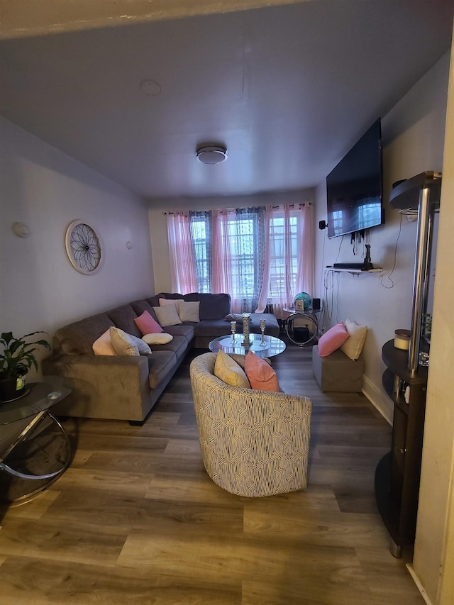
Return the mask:
[[[30,499],[38,492],[48,487],[55,481],[60,474],[65,471],[70,462],[71,446],[70,440],[60,422],[52,416],[50,409],[52,406],[65,399],[71,392],[71,389],[63,384],[62,377],[45,376],[43,382],[32,382],[27,384],[26,394],[21,399],[0,403],[0,471],[1,474],[7,474],[10,478],[25,480],[25,484],[33,486],[32,489],[23,489],[20,495],[6,498],[6,501]],[[45,468],[47,460],[40,462],[40,469],[37,473],[28,470],[28,466],[33,467],[33,457],[37,456],[39,448],[29,448],[30,464],[25,468],[18,470],[14,463],[16,453],[24,445],[28,445],[31,440],[35,440],[42,427],[48,421],[57,429],[56,435],[53,433],[46,438],[46,443],[55,440],[60,434],[63,438],[62,452],[52,460],[52,470]],[[15,468],[16,466],[16,468]],[[52,466],[52,465],[50,465]],[[56,467],[55,467],[56,466]],[[47,471],[47,472],[45,472]],[[5,477],[0,477],[4,479]],[[11,482],[11,481],[10,481]],[[31,483],[29,483],[31,482]],[[5,490],[2,490],[5,491]]]

